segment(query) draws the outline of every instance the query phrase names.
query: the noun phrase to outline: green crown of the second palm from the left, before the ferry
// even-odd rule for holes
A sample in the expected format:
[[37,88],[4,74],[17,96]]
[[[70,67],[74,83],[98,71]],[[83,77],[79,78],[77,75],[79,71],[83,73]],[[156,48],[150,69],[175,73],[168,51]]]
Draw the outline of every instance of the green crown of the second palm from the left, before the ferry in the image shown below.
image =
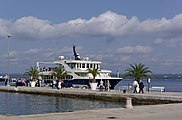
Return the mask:
[[54,69],[52,75],[55,76],[57,80],[62,80],[67,75],[67,72],[64,67],[59,66]]

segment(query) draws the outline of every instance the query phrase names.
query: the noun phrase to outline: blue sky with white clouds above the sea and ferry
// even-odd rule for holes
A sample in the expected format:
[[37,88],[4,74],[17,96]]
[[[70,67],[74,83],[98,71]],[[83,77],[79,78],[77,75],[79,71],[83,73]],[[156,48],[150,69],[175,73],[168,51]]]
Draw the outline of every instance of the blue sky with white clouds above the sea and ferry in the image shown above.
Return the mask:
[[182,73],[182,1],[0,0],[0,73],[71,59],[73,44],[113,73]]

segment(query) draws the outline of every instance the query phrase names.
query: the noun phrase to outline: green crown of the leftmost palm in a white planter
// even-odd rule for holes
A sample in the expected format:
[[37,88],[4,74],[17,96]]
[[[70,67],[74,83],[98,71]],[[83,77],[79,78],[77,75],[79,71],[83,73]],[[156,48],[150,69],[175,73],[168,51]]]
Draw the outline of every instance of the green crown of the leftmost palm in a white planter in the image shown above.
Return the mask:
[[30,67],[30,69],[28,69],[25,74],[31,76],[31,80],[35,81],[39,76],[39,70],[37,69],[37,67]]

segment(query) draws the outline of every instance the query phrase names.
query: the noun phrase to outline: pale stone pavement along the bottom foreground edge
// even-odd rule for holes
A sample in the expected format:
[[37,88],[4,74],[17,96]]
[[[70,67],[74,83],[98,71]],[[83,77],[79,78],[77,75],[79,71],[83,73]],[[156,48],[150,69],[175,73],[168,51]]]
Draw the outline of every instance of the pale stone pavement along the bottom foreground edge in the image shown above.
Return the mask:
[[113,108],[74,112],[8,116],[0,120],[181,120],[182,104],[144,105],[133,109]]

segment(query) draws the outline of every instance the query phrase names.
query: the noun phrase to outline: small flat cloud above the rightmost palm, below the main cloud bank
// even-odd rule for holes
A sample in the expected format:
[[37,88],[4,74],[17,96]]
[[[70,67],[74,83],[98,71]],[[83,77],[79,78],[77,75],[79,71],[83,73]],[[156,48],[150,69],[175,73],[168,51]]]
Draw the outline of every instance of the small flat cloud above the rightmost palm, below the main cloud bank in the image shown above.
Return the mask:
[[150,53],[151,51],[152,51],[151,47],[141,46],[141,45],[126,46],[126,47],[122,47],[122,48],[117,49],[118,53],[123,53],[123,54],[135,54],[135,53],[147,54],[147,53]]

